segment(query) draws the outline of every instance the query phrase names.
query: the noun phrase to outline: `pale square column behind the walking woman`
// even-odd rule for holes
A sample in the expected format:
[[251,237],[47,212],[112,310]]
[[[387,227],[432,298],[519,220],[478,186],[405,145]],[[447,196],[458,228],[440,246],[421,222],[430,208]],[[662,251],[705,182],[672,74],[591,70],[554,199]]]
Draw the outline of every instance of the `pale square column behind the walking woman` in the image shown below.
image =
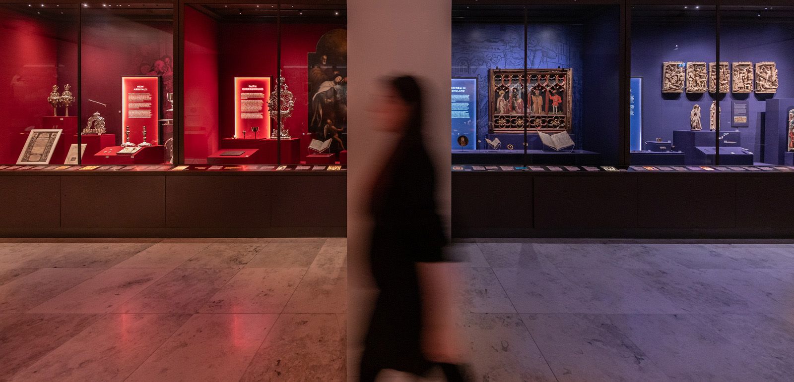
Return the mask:
[[[377,132],[372,103],[381,79],[411,74],[426,85],[426,147],[437,166],[437,198],[449,227],[451,189],[450,0],[348,0],[348,353],[357,376],[357,342],[368,305],[367,203],[372,179],[393,142]],[[399,203],[399,201],[394,201]]]

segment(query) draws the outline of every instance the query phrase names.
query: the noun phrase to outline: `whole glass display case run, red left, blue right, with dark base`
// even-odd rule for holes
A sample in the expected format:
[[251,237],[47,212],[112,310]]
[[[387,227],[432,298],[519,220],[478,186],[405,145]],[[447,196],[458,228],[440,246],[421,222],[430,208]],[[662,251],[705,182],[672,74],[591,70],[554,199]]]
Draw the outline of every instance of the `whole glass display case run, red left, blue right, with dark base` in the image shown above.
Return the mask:
[[[0,0],[0,232],[344,235],[346,8]],[[792,233],[791,5],[450,14],[456,235]]]

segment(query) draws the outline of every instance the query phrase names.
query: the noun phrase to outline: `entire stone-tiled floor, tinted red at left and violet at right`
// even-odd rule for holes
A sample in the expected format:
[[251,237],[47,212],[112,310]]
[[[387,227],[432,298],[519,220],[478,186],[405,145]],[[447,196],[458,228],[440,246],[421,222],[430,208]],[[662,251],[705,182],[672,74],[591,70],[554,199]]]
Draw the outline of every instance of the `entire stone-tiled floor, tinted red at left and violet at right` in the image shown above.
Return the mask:
[[[346,246],[0,239],[0,380],[356,380]],[[477,382],[794,380],[792,243],[461,239],[450,253]]]

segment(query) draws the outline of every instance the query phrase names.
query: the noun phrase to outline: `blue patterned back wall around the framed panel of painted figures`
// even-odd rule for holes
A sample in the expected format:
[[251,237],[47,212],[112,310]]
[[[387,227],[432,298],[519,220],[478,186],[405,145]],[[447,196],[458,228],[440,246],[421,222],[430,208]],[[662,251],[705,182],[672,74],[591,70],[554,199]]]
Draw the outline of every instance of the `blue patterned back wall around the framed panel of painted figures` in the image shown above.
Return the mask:
[[[572,128],[575,134],[580,132],[582,120],[582,31],[582,25],[529,25],[526,41],[528,68],[573,69]],[[485,134],[488,133],[488,70],[522,69],[524,52],[524,25],[453,25],[452,77],[477,79],[478,149],[486,148]],[[579,140],[580,136],[576,138]]]

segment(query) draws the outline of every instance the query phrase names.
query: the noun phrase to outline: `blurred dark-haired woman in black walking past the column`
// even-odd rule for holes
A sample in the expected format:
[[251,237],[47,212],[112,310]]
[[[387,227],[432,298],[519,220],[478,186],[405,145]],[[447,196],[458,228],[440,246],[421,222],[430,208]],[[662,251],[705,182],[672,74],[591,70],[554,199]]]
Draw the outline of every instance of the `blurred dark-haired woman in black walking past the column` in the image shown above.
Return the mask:
[[360,380],[382,369],[422,375],[440,365],[450,381],[457,365],[449,302],[445,235],[436,212],[433,162],[422,144],[422,90],[410,76],[388,78],[379,113],[399,143],[372,189],[370,261],[380,288],[364,340]]

